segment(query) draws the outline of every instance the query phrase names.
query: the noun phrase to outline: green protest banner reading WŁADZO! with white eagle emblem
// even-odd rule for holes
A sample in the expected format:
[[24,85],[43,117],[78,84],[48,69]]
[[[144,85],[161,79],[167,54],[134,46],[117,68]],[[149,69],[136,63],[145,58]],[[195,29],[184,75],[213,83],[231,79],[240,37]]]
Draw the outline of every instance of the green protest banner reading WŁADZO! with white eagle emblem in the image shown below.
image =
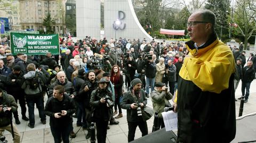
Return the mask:
[[45,55],[59,54],[58,34],[10,33],[12,54]]

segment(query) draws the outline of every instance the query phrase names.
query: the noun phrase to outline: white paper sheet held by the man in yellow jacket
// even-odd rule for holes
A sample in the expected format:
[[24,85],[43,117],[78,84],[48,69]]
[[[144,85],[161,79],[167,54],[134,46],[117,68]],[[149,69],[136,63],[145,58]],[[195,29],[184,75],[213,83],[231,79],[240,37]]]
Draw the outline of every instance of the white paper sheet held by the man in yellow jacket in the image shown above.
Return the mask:
[[173,111],[162,112],[166,131],[178,129],[178,115]]

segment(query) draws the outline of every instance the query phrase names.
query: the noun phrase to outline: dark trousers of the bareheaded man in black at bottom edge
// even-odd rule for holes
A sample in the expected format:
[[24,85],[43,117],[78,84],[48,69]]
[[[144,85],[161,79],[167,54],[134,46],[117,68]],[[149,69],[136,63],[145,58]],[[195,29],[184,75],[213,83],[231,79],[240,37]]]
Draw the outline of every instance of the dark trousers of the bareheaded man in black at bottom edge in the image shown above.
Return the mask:
[[69,133],[70,133],[70,125],[66,125],[64,127],[51,127],[52,136],[54,138],[54,143],[60,143],[61,138],[63,143],[69,143]]

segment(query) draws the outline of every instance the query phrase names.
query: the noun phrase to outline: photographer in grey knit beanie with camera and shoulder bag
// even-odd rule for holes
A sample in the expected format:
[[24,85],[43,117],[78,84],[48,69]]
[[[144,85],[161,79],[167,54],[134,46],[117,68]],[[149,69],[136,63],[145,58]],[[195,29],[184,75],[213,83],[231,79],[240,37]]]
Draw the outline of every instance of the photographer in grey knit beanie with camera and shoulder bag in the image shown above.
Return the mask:
[[126,92],[121,102],[121,107],[127,110],[128,142],[134,140],[137,126],[140,128],[142,136],[148,134],[147,122],[142,119],[141,114],[141,108],[147,104],[145,92],[141,89],[142,82],[140,79],[135,78],[131,83],[131,89]]

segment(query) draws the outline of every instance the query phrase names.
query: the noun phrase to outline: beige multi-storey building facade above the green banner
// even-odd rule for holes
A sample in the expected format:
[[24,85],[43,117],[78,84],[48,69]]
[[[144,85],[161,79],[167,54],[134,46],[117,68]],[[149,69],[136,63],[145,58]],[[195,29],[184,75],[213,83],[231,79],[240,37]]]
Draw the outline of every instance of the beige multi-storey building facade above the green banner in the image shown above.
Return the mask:
[[55,33],[66,32],[65,9],[66,0],[20,0],[21,29],[43,30],[43,21],[47,14],[51,15],[55,25]]

